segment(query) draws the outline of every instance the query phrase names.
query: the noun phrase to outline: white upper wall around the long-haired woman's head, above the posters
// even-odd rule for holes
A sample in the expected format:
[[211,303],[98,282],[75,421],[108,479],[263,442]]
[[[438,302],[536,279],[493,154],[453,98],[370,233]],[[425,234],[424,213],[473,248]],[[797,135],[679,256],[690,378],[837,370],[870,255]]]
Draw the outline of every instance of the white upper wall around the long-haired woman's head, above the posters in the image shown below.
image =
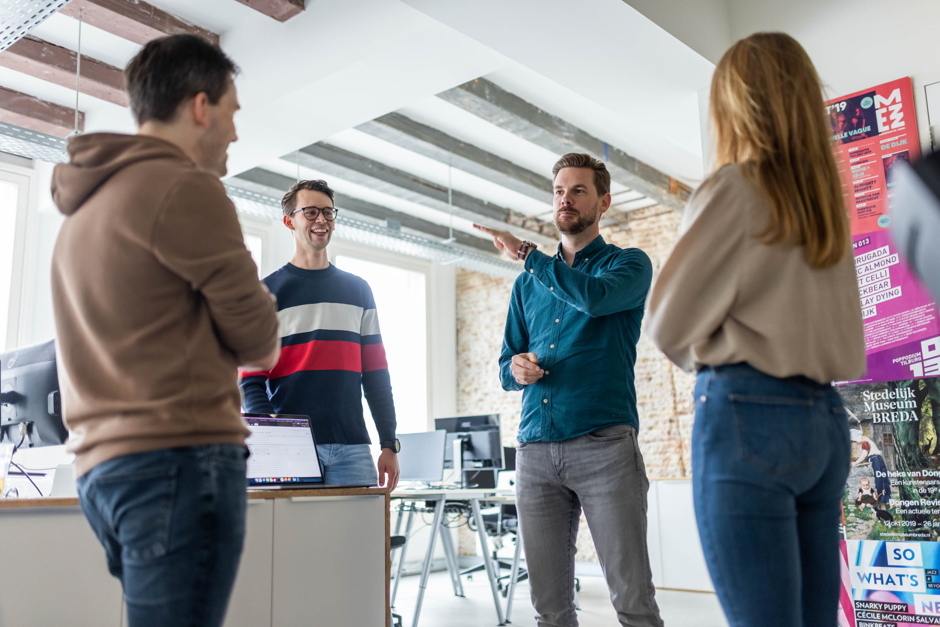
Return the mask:
[[[940,24],[936,0],[624,1],[713,64],[738,39],[760,31],[788,33],[806,48],[827,98],[910,76],[921,147],[930,148],[923,87],[940,81],[932,37]],[[707,104],[703,92],[703,116]],[[703,155],[707,159],[707,149]]]

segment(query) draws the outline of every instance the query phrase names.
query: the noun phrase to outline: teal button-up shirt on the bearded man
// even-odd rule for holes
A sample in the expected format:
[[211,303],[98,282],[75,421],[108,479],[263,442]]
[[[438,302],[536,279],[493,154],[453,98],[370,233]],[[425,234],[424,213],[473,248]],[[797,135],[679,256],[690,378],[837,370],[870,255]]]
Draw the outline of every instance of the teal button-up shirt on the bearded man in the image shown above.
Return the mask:
[[[598,236],[574,256],[538,250],[512,286],[499,378],[523,390],[520,442],[569,440],[605,427],[639,428],[634,365],[650,258]],[[512,355],[536,353],[544,376],[516,383]],[[525,388],[525,389],[524,389]]]

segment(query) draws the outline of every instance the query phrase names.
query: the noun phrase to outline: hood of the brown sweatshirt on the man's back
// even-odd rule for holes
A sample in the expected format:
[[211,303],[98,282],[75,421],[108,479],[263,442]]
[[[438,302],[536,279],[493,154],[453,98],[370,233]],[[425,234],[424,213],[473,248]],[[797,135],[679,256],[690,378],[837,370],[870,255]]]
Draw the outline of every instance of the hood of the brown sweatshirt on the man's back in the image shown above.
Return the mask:
[[147,135],[88,133],[69,140],[68,164],[53,171],[52,193],[60,212],[77,212],[88,196],[120,169],[150,159],[193,161],[175,144]]

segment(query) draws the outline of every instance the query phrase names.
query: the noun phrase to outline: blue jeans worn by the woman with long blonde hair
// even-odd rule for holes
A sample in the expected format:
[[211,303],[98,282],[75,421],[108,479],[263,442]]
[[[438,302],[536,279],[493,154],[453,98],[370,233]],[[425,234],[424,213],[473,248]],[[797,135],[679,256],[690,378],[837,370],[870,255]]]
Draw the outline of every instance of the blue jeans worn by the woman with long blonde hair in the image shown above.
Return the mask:
[[832,627],[849,425],[829,384],[746,364],[698,373],[698,533],[730,627]]

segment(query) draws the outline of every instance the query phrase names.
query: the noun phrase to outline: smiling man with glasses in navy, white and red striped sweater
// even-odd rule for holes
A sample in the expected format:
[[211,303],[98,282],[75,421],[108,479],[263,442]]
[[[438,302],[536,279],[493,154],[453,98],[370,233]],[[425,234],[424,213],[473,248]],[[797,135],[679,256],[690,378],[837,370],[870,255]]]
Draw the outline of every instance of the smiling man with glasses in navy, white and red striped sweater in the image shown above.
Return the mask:
[[293,232],[290,263],[264,278],[277,297],[281,354],[274,368],[241,373],[243,405],[256,414],[309,415],[327,484],[375,484],[362,394],[379,432],[379,483],[399,479],[395,405],[368,283],[326,255],[336,225],[333,190],[301,180],[281,199]]

